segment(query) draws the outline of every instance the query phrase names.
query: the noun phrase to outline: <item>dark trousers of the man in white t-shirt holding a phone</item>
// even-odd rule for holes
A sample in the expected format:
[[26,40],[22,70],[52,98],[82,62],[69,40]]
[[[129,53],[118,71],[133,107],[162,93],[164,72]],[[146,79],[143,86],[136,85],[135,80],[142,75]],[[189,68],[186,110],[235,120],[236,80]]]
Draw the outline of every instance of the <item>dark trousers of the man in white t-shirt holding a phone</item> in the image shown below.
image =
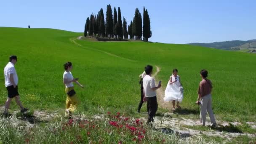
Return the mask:
[[154,121],[155,113],[157,112],[157,96],[147,98],[147,108],[148,108],[148,123]]

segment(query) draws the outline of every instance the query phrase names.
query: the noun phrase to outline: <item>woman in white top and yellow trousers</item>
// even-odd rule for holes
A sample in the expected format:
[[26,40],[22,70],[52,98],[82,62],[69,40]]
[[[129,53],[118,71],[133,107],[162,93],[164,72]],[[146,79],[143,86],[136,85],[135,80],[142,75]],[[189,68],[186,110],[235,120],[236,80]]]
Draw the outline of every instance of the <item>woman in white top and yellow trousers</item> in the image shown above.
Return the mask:
[[63,74],[63,83],[66,86],[65,92],[67,95],[65,111],[66,117],[70,117],[71,112],[74,112],[77,109],[78,99],[74,90],[73,82],[77,83],[81,88],[84,88],[84,86],[77,81],[78,78],[73,78],[71,73],[72,68],[71,62],[68,61],[66,64],[64,64],[65,72]]

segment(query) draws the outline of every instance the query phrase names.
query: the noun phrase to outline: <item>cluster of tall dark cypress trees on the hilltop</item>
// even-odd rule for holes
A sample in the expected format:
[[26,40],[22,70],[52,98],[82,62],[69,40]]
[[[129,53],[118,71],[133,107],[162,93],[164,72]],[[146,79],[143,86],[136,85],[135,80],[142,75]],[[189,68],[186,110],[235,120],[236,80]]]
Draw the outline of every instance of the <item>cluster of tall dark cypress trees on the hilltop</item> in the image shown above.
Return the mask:
[[129,38],[148,41],[152,36],[149,14],[144,7],[142,27],[142,16],[139,9],[136,8],[133,21],[127,26],[127,21],[124,17],[122,22],[120,7],[118,7],[118,13],[114,7],[114,13],[112,14],[111,5],[107,5],[106,21],[102,8],[98,14],[92,13],[90,18],[86,19],[84,36],[87,37],[87,35],[90,37],[118,38],[120,40]]

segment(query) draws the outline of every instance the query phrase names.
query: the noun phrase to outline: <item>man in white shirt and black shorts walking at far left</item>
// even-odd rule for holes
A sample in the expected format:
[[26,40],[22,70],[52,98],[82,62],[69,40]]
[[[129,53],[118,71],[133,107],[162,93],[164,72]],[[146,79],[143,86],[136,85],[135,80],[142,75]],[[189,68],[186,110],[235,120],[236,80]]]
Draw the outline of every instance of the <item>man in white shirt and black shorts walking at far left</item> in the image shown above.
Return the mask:
[[20,97],[19,97],[18,75],[14,67],[16,62],[17,62],[17,56],[10,56],[9,63],[4,68],[5,87],[8,91],[8,98],[5,102],[4,115],[8,115],[8,109],[10,107],[12,98],[15,98],[16,103],[19,105],[22,113],[27,111],[27,109],[22,106]]

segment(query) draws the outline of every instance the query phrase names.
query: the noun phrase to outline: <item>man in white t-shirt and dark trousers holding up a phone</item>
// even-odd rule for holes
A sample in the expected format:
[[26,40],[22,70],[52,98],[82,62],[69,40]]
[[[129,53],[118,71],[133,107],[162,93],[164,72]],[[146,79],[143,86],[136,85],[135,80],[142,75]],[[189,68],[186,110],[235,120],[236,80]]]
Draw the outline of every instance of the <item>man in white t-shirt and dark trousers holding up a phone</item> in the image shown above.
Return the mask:
[[144,95],[147,97],[147,107],[148,107],[148,121],[147,124],[152,124],[154,121],[155,113],[157,112],[157,93],[156,90],[161,88],[161,84],[156,87],[155,79],[151,77],[153,71],[153,67],[151,65],[147,65],[145,68],[146,76],[143,78],[143,89]]

